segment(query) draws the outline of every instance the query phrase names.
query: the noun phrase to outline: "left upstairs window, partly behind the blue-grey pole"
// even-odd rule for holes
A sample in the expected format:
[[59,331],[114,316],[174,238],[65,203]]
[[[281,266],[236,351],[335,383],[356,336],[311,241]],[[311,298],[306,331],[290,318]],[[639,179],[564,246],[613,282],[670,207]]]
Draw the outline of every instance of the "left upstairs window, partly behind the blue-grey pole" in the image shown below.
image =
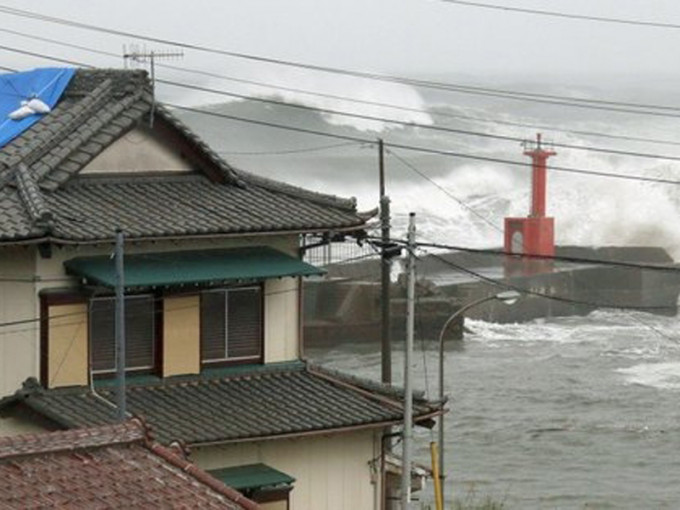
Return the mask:
[[[116,300],[90,300],[90,361],[94,373],[116,370]],[[154,298],[125,297],[125,369],[154,367]]]

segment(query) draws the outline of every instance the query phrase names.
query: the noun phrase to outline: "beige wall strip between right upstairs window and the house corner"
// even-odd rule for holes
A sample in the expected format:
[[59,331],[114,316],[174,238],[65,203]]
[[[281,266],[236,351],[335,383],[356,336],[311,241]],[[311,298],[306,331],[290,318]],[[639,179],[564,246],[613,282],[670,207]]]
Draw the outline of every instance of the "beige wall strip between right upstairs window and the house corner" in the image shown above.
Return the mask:
[[265,282],[265,363],[299,358],[299,282],[299,278],[279,278]]

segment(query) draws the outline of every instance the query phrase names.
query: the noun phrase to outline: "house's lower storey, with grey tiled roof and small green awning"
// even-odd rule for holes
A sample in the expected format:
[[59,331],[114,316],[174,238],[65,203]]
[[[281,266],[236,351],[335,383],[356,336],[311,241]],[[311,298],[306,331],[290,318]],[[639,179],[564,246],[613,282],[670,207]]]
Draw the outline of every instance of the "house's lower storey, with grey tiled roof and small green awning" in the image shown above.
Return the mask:
[[[115,423],[112,381],[46,389],[28,379],[0,400],[0,434]],[[129,413],[163,444],[268,509],[378,509],[384,498],[388,427],[403,416],[403,391],[295,361],[129,377]],[[431,426],[439,406],[414,403]]]

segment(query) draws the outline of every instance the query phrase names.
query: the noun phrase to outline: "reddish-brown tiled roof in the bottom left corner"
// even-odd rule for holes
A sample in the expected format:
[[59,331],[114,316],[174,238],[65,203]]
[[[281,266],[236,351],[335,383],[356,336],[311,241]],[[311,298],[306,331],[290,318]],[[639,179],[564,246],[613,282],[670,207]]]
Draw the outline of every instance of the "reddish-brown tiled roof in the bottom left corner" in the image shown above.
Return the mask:
[[0,508],[255,510],[136,419],[0,437]]

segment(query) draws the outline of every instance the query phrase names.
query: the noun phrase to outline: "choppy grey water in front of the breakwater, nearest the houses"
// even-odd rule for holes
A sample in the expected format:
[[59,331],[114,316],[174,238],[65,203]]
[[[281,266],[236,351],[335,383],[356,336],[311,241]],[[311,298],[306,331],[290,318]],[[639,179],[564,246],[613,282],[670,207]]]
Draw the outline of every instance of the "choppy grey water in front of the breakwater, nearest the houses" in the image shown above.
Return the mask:
[[[680,508],[680,324],[620,312],[525,324],[467,321],[447,344],[446,499],[510,509]],[[393,377],[403,380],[395,347]],[[379,380],[377,344],[313,349]],[[436,398],[437,345],[416,341],[416,388]],[[436,430],[416,433],[430,465]],[[432,488],[420,495],[433,504]],[[434,508],[434,506],[432,506]]]

